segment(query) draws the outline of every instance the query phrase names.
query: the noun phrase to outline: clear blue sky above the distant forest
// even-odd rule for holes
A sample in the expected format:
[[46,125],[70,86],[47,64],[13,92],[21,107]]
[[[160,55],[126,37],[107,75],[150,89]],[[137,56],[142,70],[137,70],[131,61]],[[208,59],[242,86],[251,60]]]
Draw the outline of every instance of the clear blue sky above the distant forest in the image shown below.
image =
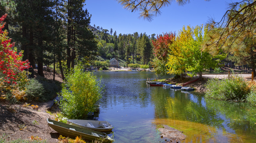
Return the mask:
[[[134,32],[162,34],[179,32],[183,25],[196,25],[207,23],[209,17],[220,21],[227,10],[227,3],[240,2],[240,0],[190,0],[185,6],[172,3],[169,7],[161,9],[162,14],[149,22],[139,19],[139,12],[131,12],[116,2],[116,0],[86,0],[84,8],[92,14],[91,25],[110,28],[118,34],[133,34]],[[113,35],[113,34],[112,34]]]

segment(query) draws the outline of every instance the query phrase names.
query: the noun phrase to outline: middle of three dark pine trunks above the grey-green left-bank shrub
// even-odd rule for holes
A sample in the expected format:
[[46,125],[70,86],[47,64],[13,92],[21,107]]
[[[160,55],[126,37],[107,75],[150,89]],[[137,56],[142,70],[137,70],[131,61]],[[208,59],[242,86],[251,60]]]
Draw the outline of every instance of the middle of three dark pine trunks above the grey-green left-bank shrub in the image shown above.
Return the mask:
[[[34,53],[33,53],[33,29],[30,28],[29,29],[29,62],[30,65],[33,66],[34,65]],[[30,77],[34,78],[34,67],[29,69]]]

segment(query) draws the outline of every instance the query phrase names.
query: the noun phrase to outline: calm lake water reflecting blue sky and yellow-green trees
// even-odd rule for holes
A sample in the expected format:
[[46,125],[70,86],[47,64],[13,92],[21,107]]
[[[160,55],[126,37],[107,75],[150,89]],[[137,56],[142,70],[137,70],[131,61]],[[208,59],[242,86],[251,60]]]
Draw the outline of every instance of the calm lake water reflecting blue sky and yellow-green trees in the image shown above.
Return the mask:
[[[194,91],[150,87],[153,72],[94,72],[105,92],[98,120],[114,126],[115,143],[165,142],[158,128],[183,131],[181,142],[256,142],[256,110],[248,103],[216,101]],[[159,79],[170,78],[159,77]],[[111,134],[110,134],[111,135]]]

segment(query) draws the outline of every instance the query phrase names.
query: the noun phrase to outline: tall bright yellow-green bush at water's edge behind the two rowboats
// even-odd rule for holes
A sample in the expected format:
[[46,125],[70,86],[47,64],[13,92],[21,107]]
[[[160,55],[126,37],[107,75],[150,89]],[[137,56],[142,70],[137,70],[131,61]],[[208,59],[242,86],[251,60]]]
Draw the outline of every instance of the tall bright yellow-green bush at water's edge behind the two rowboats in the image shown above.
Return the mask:
[[92,72],[83,72],[78,63],[74,70],[66,71],[62,84],[60,108],[69,119],[84,119],[89,112],[98,106],[103,86]]

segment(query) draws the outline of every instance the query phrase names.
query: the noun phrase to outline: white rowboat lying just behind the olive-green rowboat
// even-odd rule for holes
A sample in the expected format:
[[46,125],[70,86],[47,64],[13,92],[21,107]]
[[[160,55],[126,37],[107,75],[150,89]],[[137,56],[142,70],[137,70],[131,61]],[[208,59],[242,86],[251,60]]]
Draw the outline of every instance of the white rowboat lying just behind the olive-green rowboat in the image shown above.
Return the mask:
[[68,119],[67,124],[104,133],[111,133],[113,129],[108,121]]

